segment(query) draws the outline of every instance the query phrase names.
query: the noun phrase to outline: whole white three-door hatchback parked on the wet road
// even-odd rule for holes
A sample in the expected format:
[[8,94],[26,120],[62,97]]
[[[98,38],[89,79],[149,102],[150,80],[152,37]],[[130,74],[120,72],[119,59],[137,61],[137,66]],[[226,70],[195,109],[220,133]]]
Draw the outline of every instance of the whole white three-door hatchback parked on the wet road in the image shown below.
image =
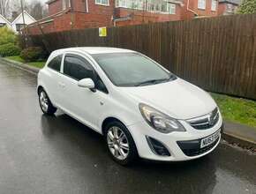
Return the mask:
[[64,48],[38,74],[44,114],[59,108],[101,133],[119,164],[138,158],[192,160],[221,139],[222,116],[211,96],[138,52]]

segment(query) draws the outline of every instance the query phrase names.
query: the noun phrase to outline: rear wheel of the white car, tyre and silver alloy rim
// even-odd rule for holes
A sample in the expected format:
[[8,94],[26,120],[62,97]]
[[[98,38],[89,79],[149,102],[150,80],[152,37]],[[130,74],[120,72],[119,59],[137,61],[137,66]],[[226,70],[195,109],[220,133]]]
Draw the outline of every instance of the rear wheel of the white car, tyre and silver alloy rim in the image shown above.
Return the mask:
[[43,89],[41,89],[38,93],[38,97],[40,108],[43,114],[53,116],[56,113],[56,108],[52,105],[51,101],[49,100],[48,94]]

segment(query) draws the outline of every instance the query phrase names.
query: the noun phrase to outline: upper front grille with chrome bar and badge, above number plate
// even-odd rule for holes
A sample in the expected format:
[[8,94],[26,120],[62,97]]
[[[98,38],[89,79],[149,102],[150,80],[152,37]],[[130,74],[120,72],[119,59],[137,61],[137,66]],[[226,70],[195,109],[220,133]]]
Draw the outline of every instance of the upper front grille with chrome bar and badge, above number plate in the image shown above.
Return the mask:
[[187,122],[196,130],[207,130],[215,126],[220,118],[218,108],[215,108],[211,113],[206,116],[200,116],[187,120]]

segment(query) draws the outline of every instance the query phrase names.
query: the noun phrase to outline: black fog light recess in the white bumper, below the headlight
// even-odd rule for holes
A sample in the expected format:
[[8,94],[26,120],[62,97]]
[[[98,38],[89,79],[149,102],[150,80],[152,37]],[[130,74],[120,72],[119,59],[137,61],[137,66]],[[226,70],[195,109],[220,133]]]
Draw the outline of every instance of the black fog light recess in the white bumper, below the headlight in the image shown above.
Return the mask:
[[150,138],[146,136],[147,138],[147,144],[152,150],[152,152],[156,155],[161,155],[161,156],[170,156],[170,153],[168,149],[162,145],[162,143],[155,138]]

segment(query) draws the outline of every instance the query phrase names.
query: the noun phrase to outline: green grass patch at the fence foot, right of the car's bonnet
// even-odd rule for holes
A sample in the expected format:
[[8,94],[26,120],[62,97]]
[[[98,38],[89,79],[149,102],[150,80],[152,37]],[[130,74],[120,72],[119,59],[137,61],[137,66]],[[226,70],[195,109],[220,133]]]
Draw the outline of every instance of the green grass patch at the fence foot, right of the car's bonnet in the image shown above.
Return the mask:
[[225,120],[256,128],[256,101],[211,93]]

